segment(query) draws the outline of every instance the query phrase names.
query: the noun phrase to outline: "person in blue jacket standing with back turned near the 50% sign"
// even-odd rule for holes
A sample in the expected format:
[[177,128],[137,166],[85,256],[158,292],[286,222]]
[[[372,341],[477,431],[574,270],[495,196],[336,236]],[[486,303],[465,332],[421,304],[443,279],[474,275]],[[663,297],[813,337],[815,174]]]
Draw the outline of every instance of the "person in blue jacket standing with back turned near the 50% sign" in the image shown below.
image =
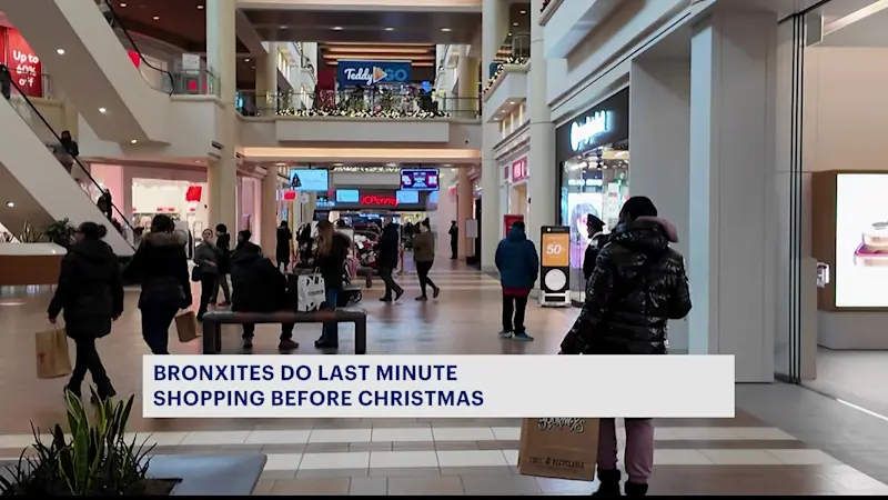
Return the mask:
[[534,340],[524,328],[527,297],[539,276],[539,256],[527,239],[524,222],[512,224],[508,236],[496,247],[496,269],[503,287],[503,339]]

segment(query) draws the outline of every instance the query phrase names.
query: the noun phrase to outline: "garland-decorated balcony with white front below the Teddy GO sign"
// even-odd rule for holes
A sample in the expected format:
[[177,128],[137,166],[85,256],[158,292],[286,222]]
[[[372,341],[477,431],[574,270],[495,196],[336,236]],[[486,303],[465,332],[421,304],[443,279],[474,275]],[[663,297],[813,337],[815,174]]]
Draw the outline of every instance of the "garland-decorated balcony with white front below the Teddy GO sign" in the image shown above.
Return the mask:
[[481,149],[480,100],[428,92],[355,89],[239,92],[248,147],[445,147]]

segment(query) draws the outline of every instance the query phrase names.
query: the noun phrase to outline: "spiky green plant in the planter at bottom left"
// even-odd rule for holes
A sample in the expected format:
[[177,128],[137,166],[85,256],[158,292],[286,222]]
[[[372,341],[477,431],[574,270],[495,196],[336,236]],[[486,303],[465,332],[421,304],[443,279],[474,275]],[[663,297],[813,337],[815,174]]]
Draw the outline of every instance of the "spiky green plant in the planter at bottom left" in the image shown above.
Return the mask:
[[[92,394],[94,398],[98,396]],[[109,399],[87,416],[80,398],[67,392],[70,438],[61,426],[52,429],[49,443],[33,429],[34,456],[24,452],[17,464],[0,476],[0,496],[168,496],[179,480],[147,476],[151,448],[127,442],[124,430],[133,397],[127,402]],[[70,440],[69,440],[70,439]]]

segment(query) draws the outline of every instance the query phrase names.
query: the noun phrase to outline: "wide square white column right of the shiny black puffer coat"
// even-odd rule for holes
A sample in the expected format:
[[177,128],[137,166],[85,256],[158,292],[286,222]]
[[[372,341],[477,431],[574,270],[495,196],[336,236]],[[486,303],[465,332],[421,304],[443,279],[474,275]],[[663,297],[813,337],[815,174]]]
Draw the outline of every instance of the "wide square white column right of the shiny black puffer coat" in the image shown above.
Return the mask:
[[774,380],[776,36],[716,9],[690,42],[688,343],[734,354],[738,382]]

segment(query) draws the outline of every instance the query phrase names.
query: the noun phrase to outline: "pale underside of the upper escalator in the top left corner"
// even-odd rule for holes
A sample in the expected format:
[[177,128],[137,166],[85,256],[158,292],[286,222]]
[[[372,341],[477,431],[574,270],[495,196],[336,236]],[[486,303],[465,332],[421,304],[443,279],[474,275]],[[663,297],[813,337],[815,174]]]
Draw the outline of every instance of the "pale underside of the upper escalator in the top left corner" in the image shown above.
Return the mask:
[[[0,11],[99,139],[170,142],[170,76],[145,66],[141,56],[137,68],[94,2],[0,0]],[[111,17],[117,19],[113,12]],[[152,80],[157,81],[150,84]]]

